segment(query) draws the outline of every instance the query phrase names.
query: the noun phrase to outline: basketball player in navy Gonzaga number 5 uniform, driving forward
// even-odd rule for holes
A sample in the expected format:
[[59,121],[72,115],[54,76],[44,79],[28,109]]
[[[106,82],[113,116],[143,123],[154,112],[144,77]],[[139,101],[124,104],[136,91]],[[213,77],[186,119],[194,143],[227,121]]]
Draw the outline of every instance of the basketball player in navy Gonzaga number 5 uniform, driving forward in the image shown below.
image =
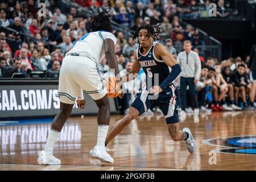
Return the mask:
[[[137,75],[141,67],[146,73],[147,88],[135,99],[127,115],[115,122],[106,137],[105,146],[122,129],[129,125],[133,119],[137,119],[151,106],[159,106],[166,119],[169,134],[175,142],[185,140],[188,151],[192,154],[196,150],[196,142],[191,131],[185,127],[179,130],[179,117],[177,114],[177,102],[175,100],[175,87],[172,81],[180,74],[181,68],[176,59],[160,43],[155,42],[160,33],[158,26],[143,25],[135,31],[133,39],[139,39],[139,47],[134,52],[134,63],[131,75]],[[170,68],[171,67],[171,72]],[[131,76],[127,73],[126,78]],[[158,76],[158,79],[155,78]],[[152,97],[155,99],[152,100]]]

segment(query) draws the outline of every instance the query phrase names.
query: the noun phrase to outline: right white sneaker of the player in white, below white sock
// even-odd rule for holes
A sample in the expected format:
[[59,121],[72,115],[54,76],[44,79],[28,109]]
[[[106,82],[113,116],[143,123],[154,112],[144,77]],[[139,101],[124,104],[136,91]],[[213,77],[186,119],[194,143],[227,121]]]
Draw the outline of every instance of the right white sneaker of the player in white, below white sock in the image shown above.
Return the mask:
[[114,163],[114,159],[106,152],[105,147],[95,146],[92,150],[90,150],[89,155],[92,158],[98,159],[104,163]]

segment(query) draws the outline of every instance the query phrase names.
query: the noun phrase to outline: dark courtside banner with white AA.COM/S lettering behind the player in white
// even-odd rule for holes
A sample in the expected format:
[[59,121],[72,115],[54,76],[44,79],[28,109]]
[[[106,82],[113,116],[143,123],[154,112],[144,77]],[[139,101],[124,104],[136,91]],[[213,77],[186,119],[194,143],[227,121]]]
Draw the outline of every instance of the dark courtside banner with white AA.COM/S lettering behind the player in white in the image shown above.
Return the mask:
[[[58,81],[8,82],[0,80],[0,118],[50,117],[60,110],[57,95]],[[72,114],[97,114],[98,107],[89,95],[84,95],[85,110],[74,104]],[[110,112],[116,113],[117,106],[110,100]]]

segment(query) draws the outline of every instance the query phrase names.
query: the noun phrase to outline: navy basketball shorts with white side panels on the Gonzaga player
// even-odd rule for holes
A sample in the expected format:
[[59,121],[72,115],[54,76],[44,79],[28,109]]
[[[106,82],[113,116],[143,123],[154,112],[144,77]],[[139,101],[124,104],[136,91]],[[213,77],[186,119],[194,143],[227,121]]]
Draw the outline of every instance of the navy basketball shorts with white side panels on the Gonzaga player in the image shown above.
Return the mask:
[[175,87],[173,85],[166,90],[163,90],[155,100],[151,99],[154,96],[151,96],[147,90],[143,90],[135,98],[133,104],[131,105],[139,111],[139,115],[142,115],[147,109],[150,109],[151,106],[159,106],[166,118],[166,123],[177,123],[179,122],[179,116],[177,114],[177,101],[175,95]]

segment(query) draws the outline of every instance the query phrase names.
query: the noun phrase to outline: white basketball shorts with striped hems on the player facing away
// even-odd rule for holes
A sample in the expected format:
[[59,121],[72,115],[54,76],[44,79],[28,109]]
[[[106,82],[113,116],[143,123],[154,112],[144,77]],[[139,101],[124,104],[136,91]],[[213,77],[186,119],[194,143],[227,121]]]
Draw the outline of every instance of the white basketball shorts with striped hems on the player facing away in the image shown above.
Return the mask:
[[74,104],[81,92],[89,94],[93,100],[106,95],[106,86],[98,64],[84,56],[66,56],[60,69],[58,95],[65,104]]

